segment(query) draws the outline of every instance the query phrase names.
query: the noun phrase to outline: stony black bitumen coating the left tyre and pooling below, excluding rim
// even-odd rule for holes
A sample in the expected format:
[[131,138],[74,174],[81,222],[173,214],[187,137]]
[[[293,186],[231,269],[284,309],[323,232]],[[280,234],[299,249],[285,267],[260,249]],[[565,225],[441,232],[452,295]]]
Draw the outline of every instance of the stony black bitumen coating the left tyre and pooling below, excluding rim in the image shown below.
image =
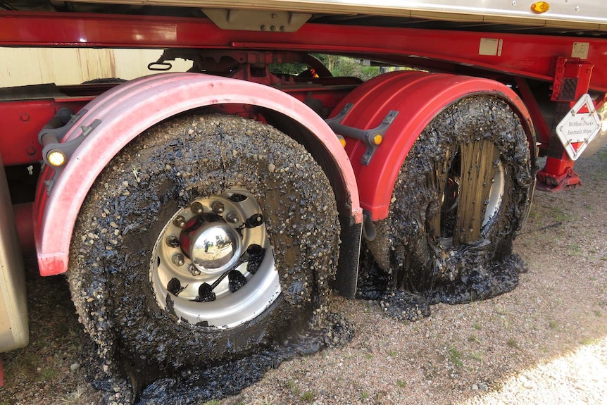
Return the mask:
[[[244,187],[262,206],[282,294],[254,320],[218,331],[177,320],[174,299],[160,309],[149,263],[156,235],[180,207],[230,187]],[[120,152],[83,204],[68,273],[101,359],[95,385],[108,390],[108,401],[128,404],[141,394],[145,403],[149,385],[149,392],[170,386],[192,400],[217,394],[212,387],[232,392],[227,387],[242,389],[263,375],[270,358],[277,364],[349,339],[351,328],[335,323],[328,306],[339,241],[328,189],[303,147],[268,125],[233,116],[175,118]],[[230,364],[250,375],[227,375],[222,370]]]

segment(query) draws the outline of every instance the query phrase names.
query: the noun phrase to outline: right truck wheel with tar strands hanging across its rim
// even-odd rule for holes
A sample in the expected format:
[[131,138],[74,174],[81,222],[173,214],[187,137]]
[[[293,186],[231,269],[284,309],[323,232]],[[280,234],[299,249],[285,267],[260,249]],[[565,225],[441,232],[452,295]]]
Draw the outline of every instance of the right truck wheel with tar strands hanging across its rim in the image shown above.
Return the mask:
[[[368,248],[389,273],[392,289],[435,296],[456,284],[474,287],[511,255],[533,188],[530,147],[518,116],[494,96],[460,99],[413,144],[389,215],[376,224],[377,238]],[[507,290],[483,288],[460,301]]]

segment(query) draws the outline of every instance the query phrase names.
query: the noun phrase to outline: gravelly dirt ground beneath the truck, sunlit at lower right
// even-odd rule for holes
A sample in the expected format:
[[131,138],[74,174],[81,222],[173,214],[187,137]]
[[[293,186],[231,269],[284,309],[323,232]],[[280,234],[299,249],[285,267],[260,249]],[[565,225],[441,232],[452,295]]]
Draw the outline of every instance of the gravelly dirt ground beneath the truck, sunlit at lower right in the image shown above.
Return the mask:
[[[607,147],[576,163],[584,185],[538,192],[515,240],[529,271],[513,292],[432,306],[416,323],[336,298],[349,344],[268,370],[198,404],[607,404]],[[4,404],[103,404],[63,277],[26,258],[30,345],[3,354]]]

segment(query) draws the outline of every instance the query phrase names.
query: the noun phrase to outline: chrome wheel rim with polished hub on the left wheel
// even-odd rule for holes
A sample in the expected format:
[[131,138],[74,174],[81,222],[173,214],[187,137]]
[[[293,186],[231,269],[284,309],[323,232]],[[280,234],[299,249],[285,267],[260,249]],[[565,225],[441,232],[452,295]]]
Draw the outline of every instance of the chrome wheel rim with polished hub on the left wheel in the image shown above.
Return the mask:
[[281,289],[256,199],[229,189],[178,210],[154,244],[150,282],[177,323],[227,329],[263,313]]

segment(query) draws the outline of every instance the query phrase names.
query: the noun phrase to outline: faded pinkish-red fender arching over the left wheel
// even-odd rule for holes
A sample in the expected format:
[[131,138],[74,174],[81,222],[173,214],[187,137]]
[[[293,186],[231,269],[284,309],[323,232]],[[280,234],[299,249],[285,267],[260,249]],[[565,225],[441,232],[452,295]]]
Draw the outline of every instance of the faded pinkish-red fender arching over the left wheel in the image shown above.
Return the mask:
[[289,94],[253,82],[198,73],[166,73],[142,77],[119,85],[94,99],[88,110],[63,138],[74,139],[82,126],[101,120],[70,157],[54,180],[50,194],[46,182],[54,171],[46,168],[39,181],[35,210],[35,241],[42,275],[64,273],[68,268],[75,220],[89,188],[115,154],[134,137],[156,123],[201,106],[249,104],[289,116],[306,127],[332,157],[349,201],[349,214],[363,220],[356,177],[339,140],[310,108]]

